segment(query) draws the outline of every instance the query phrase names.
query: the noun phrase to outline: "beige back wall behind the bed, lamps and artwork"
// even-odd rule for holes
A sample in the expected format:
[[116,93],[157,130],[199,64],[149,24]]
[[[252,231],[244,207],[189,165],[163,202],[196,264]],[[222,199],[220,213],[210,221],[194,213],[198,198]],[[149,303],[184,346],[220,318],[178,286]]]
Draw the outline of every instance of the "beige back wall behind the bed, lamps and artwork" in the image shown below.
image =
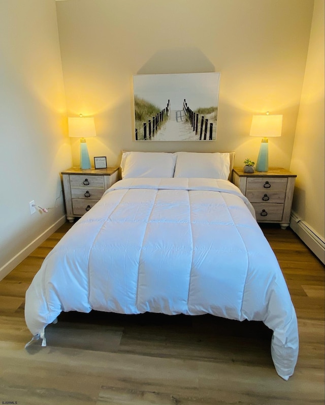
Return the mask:
[[[90,158],[121,150],[236,151],[257,158],[254,113],[283,114],[270,166],[289,168],[308,50],[312,0],[69,0],[57,2],[68,114],[94,115]],[[136,142],[134,74],[221,72],[215,142]],[[79,164],[79,143],[72,141]]]

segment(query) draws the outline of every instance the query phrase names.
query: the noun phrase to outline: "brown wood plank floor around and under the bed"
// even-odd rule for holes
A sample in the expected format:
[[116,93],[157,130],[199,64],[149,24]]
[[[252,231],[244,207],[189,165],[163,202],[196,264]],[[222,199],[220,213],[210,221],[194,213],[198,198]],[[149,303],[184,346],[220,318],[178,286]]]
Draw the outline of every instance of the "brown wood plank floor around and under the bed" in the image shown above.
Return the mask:
[[[270,331],[217,317],[62,313],[30,339],[24,296],[63,225],[0,282],[0,403],[324,403],[324,267],[290,230],[264,225],[295,305],[300,352],[295,374],[278,377]],[[12,401],[12,402],[9,402]]]

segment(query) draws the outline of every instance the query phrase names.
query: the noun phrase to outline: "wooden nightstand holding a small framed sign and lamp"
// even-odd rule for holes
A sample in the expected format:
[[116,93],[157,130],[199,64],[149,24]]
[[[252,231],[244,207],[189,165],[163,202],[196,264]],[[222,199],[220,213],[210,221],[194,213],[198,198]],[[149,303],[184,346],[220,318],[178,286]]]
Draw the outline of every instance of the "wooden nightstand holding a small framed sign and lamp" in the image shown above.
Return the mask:
[[82,217],[119,178],[118,167],[80,169],[72,167],[61,172],[67,219]]

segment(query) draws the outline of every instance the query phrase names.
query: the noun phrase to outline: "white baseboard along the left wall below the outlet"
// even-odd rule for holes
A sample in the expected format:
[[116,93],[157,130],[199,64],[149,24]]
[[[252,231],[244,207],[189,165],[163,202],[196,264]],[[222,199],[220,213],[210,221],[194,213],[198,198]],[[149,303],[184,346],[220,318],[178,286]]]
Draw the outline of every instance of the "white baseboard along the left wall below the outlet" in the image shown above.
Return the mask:
[[51,236],[56,229],[62,226],[66,222],[66,216],[62,216],[53,225],[47,228],[40,236],[38,236],[34,241],[30,242],[25,248],[23,248],[19,253],[17,253],[9,262],[7,262],[0,269],[0,281],[5,278],[16,266],[19,265],[33,250],[40,246],[49,236]]

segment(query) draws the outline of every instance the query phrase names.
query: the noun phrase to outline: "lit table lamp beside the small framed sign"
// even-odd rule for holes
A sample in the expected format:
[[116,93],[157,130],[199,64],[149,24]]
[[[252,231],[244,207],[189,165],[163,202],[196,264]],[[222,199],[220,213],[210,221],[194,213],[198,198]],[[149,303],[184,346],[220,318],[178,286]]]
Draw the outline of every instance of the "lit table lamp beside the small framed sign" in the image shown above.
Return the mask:
[[85,138],[96,136],[93,117],[68,118],[69,136],[80,138],[80,168],[90,169],[90,159]]

